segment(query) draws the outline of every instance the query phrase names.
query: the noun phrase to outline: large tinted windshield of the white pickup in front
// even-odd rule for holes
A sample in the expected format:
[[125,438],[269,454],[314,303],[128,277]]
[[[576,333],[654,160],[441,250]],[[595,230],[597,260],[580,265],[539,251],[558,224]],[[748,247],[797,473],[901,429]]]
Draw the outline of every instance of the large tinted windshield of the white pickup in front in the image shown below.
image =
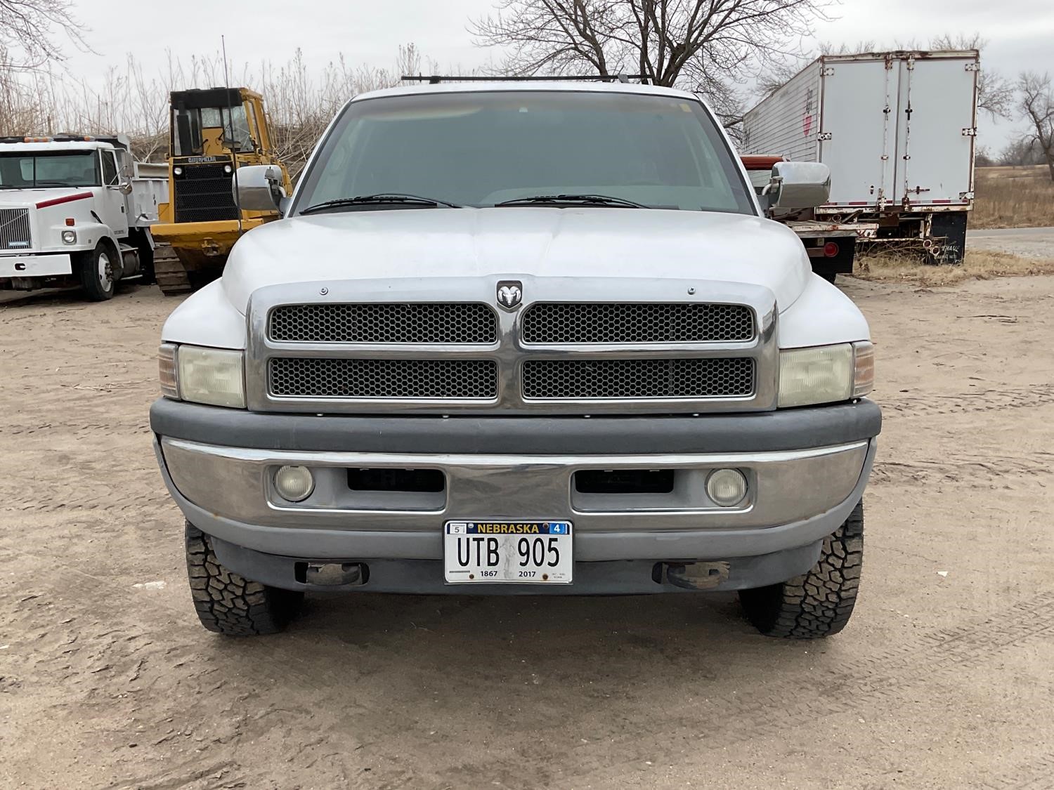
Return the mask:
[[297,204],[378,193],[477,208],[540,195],[604,195],[649,208],[754,214],[748,189],[697,101],[467,92],[352,103],[307,174]]

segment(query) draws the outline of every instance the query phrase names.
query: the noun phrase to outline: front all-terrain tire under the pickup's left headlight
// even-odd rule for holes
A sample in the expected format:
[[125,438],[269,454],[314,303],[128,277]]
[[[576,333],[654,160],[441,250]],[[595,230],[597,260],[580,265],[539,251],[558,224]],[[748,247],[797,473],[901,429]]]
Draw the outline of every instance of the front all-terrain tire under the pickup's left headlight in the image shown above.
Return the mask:
[[201,625],[227,636],[275,634],[296,615],[304,593],[267,587],[227,570],[211,538],[187,522],[187,575]]

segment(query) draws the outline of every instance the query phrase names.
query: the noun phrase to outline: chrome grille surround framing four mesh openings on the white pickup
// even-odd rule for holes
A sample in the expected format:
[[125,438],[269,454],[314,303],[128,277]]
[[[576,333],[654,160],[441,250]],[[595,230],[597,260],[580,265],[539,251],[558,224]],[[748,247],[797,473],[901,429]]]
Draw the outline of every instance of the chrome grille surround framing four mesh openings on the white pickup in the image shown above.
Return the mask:
[[[496,283],[516,279],[523,282],[525,301],[516,311],[496,310]],[[702,285],[702,287],[701,287]],[[700,292],[695,297],[696,292]],[[746,305],[753,315],[755,333],[746,341],[652,342],[652,343],[525,343],[523,321],[536,302],[574,299],[584,302],[588,294],[605,303],[677,303]],[[444,304],[482,303],[493,309],[497,337],[490,343],[419,342],[320,342],[284,341],[270,336],[273,311],[307,304]],[[246,394],[248,407],[258,412],[292,413],[402,413],[402,414],[691,414],[696,412],[769,411],[776,408],[778,347],[775,296],[766,288],[741,283],[700,283],[683,279],[534,277],[515,272],[477,277],[376,278],[352,281],[319,281],[269,285],[254,291],[247,308]],[[480,390],[418,390],[408,397],[379,395],[364,390],[359,396],[337,393],[330,396],[297,393],[271,386],[271,360],[278,358],[337,360],[463,360],[493,363],[496,391],[491,398],[465,397]],[[570,397],[527,397],[534,392],[529,380],[532,361],[625,360],[628,367],[669,369],[669,360],[700,371],[720,362],[691,360],[752,360],[753,387],[718,387],[713,394],[696,388],[685,397],[657,396],[655,389],[599,392],[581,397],[582,391],[563,393]],[[636,361],[635,361],[636,360]],[[641,366],[642,360],[648,360]],[[607,364],[607,362],[605,362]],[[326,364],[332,364],[327,362]],[[338,370],[344,362],[331,370]],[[740,364],[746,364],[740,362]],[[610,366],[609,366],[610,367]],[[390,366],[389,368],[393,368]],[[472,366],[463,370],[473,370]],[[363,370],[363,368],[359,368]],[[718,370],[718,369],[713,369]],[[525,374],[525,371],[528,373]],[[711,381],[719,380],[711,377]],[[745,392],[749,389],[748,392]],[[325,392],[326,390],[320,390]],[[292,394],[279,394],[290,392]],[[335,392],[329,390],[329,392]],[[745,393],[745,394],[734,394]],[[561,395],[561,393],[550,393]],[[372,396],[371,396],[372,395]]]

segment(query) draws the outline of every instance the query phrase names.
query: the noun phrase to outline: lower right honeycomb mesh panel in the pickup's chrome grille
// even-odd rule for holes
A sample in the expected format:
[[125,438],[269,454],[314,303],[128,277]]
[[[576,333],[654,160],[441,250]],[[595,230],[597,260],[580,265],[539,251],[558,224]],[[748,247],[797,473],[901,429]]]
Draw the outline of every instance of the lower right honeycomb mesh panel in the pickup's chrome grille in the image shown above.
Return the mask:
[[719,398],[754,394],[754,359],[532,359],[525,398]]

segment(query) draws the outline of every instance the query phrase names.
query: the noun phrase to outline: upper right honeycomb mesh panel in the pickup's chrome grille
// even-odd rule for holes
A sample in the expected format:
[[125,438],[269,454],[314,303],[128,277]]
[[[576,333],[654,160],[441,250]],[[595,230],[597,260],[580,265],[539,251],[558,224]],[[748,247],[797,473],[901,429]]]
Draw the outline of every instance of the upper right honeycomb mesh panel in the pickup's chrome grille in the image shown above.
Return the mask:
[[674,343],[752,340],[743,304],[539,302],[523,318],[526,343]]

